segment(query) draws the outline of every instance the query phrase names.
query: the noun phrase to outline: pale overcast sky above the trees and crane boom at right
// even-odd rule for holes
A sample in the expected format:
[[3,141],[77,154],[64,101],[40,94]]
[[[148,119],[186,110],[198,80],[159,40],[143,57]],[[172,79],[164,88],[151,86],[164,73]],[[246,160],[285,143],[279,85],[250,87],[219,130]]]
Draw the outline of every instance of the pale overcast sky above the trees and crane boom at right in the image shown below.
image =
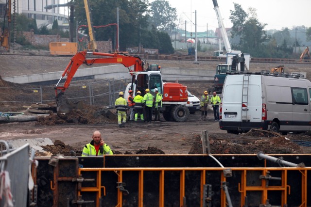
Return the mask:
[[[153,0],[150,0],[152,2]],[[194,32],[195,15],[197,13],[197,32],[205,32],[218,27],[218,21],[212,0],[167,0],[171,7],[176,8],[178,19],[182,20],[179,28]],[[268,24],[265,30],[304,25],[311,27],[311,0],[217,0],[225,27],[232,27],[230,10],[234,10],[233,2],[242,6],[245,12],[252,7],[257,9],[260,23]],[[190,21],[193,22],[192,26]],[[188,24],[189,22],[189,24]],[[191,28],[191,29],[190,29]]]

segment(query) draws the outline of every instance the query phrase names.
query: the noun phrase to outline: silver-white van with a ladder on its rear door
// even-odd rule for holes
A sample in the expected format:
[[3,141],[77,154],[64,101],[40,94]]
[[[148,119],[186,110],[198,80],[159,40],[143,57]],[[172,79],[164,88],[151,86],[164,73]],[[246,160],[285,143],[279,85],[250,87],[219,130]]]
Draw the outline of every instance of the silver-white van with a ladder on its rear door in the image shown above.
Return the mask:
[[[287,78],[286,78],[287,77]],[[228,133],[261,128],[287,134],[311,129],[311,82],[301,74],[229,75],[219,126]]]

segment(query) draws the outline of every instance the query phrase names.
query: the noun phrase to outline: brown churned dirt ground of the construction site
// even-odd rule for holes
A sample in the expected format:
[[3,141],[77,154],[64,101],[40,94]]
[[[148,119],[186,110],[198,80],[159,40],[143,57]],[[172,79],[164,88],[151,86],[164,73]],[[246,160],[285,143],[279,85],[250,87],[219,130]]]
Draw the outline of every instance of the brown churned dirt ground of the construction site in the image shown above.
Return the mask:
[[[13,56],[14,57],[14,56]],[[2,56],[0,55],[0,61]],[[32,59],[34,57],[30,57]],[[23,59],[23,60],[22,60]],[[23,57],[13,58],[10,61],[5,59],[5,65],[15,68],[0,70],[0,76],[9,77],[25,74],[44,73],[48,71],[62,71],[68,64],[69,58],[63,58],[64,61],[49,62],[50,67],[42,67],[44,61],[29,61]],[[27,59],[27,60],[24,60]],[[66,61],[65,61],[66,59]],[[3,59],[4,60],[4,59]],[[19,61],[17,61],[19,60]],[[17,63],[18,62],[18,63]],[[27,67],[27,63],[32,62],[32,69]],[[41,63],[41,64],[40,64]],[[214,70],[217,63],[192,64],[189,62],[159,62],[162,68],[167,67],[210,67]],[[9,66],[10,65],[10,66]],[[23,65],[20,67],[18,65]],[[36,66],[37,65],[37,66]],[[256,66],[255,66],[256,65]],[[276,64],[254,64],[254,70],[276,67]],[[56,69],[58,68],[58,70]],[[293,72],[307,72],[310,70],[310,64],[293,64],[285,68]],[[42,71],[44,70],[44,71]],[[288,71],[290,72],[290,71]],[[211,82],[195,81],[181,82],[187,85],[188,89],[195,96],[201,94],[211,87]],[[20,84],[13,84],[0,80],[0,87],[23,87]],[[79,92],[77,92],[79,93]],[[10,96],[10,91],[6,90],[0,94],[0,98]],[[0,111],[25,111],[22,105],[0,104]],[[310,154],[311,136],[308,132],[301,134],[288,134],[280,136],[264,131],[251,131],[248,134],[228,134],[219,128],[219,123],[214,121],[213,112],[207,113],[207,121],[201,120],[201,112],[190,114],[187,122],[167,122],[161,116],[161,122],[152,122],[145,124],[143,122],[126,123],[125,128],[119,128],[115,110],[109,110],[107,115],[105,106],[95,107],[82,104],[82,108],[69,114],[51,113],[48,116],[42,116],[35,122],[14,122],[0,124],[1,140],[50,138],[54,145],[45,146],[46,151],[51,155],[63,154],[70,156],[81,155],[84,145],[91,141],[92,133],[95,130],[102,132],[104,142],[107,143],[115,154],[201,154],[202,142],[201,133],[208,131],[210,140],[210,150],[212,154],[257,154],[262,151],[266,154]],[[297,144],[297,143],[300,143]],[[304,143],[304,146],[302,145]],[[71,151],[71,152],[70,152]],[[73,153],[73,152],[74,153]],[[43,154],[37,153],[37,156]]]

